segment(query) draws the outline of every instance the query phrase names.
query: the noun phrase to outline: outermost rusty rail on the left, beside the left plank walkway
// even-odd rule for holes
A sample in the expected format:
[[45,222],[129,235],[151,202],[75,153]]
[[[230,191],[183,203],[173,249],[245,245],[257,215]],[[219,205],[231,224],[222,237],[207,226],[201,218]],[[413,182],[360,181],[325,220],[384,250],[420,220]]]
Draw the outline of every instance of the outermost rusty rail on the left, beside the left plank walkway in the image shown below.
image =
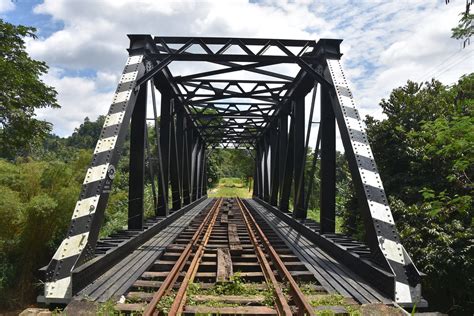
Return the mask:
[[173,289],[173,286],[176,283],[176,280],[178,279],[179,274],[183,270],[184,266],[186,265],[186,262],[188,261],[189,257],[192,254],[193,248],[198,243],[199,236],[203,232],[206,226],[206,223],[214,215],[214,213],[217,213],[216,210],[219,210],[218,206],[220,205],[220,203],[222,203],[222,198],[217,200],[212,206],[211,210],[207,213],[206,217],[203,219],[202,223],[199,225],[198,229],[194,233],[193,238],[186,245],[183,252],[179,256],[178,260],[176,261],[176,264],[173,266],[173,269],[171,269],[170,273],[166,276],[166,279],[163,281],[158,291],[155,292],[155,294],[153,294],[153,298],[151,299],[150,303],[146,306],[145,311],[143,312],[143,315],[145,316],[154,315],[156,312],[156,304],[158,304],[158,302],[161,300],[163,296],[167,295]]

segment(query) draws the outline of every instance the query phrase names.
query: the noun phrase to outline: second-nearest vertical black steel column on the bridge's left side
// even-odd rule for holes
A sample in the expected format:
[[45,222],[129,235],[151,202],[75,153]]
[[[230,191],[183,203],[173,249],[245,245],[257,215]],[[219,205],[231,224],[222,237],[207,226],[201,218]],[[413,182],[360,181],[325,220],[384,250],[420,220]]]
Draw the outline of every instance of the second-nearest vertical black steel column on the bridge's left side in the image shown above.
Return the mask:
[[176,123],[175,113],[176,104],[175,100],[172,99],[170,103],[170,110],[172,115],[170,116],[170,180],[171,180],[171,198],[173,210],[179,210],[181,208],[181,190],[180,190],[180,173],[179,173],[179,161],[178,161],[178,145],[176,139]]

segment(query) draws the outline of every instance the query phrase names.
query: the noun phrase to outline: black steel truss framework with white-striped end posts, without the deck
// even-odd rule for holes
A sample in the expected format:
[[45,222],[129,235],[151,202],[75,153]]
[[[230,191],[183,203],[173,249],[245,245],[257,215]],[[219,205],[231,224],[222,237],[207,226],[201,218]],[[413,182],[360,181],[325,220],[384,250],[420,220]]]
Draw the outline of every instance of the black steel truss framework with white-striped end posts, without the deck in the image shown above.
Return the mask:
[[[383,271],[379,273],[383,280],[368,282],[397,303],[413,304],[419,299],[420,274],[400,243],[364,123],[339,63],[340,40],[129,37],[130,57],[68,236],[45,269],[46,301],[71,297],[78,290],[71,275],[94,257],[115,166],[129,129],[129,229],[144,227],[147,174],[156,215],[170,218],[170,208],[177,211],[206,196],[208,152],[222,147],[251,153],[254,197],[278,212],[291,211],[295,223],[306,219],[319,162],[321,228],[317,234],[323,236],[335,232],[336,122],[361,204],[371,258],[354,257],[327,243],[325,237],[314,240],[364,277]],[[182,63],[185,67],[179,69]],[[155,89],[161,96],[160,113]],[[306,113],[305,97],[312,90]],[[317,90],[320,122],[308,174],[306,156]],[[150,98],[156,152],[150,150],[146,136]]]

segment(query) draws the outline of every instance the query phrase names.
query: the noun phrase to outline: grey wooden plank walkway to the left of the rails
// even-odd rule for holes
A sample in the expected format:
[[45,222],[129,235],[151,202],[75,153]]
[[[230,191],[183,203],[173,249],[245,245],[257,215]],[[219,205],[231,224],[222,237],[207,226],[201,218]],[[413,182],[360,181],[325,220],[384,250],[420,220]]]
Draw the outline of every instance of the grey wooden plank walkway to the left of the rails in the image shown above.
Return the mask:
[[80,291],[75,299],[105,302],[120,297],[210,201],[206,199],[187,211]]

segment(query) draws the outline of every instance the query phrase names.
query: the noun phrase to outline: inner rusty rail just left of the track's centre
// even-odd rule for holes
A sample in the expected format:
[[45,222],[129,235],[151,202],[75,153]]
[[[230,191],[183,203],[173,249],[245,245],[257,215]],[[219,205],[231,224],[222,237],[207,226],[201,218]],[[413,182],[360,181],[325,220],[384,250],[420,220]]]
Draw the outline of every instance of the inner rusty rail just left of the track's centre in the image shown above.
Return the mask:
[[194,254],[193,261],[191,261],[188,271],[186,272],[186,275],[184,276],[184,279],[181,282],[178,293],[176,293],[176,296],[168,312],[168,315],[180,315],[183,310],[184,303],[186,302],[186,291],[188,289],[188,285],[190,282],[194,280],[194,277],[196,276],[196,273],[199,268],[199,264],[201,263],[201,260],[202,260],[202,256],[204,255],[205,247],[207,246],[209,238],[211,237],[211,232],[214,229],[214,224],[216,223],[217,215],[219,214],[219,209],[221,208],[221,206],[222,206],[222,198],[219,200],[219,204],[216,210],[214,211],[214,213],[212,214],[212,219],[209,222],[209,225],[207,226],[206,233],[204,234],[203,240],[199,244],[199,247]]

